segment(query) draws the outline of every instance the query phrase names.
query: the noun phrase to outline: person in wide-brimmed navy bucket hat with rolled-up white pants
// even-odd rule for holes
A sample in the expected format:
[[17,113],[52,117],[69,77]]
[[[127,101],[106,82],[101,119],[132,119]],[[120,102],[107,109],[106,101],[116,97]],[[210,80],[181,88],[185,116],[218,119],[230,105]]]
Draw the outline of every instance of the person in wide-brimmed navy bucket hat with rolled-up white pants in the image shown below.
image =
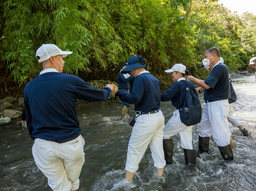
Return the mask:
[[163,150],[164,115],[160,110],[161,84],[157,78],[145,70],[146,63],[147,60],[142,56],[131,56],[127,67],[121,73],[130,72],[134,75],[132,94],[126,94],[120,90],[116,93],[121,101],[135,104],[136,111],[136,118],[130,123],[133,129],[127,151],[126,178],[117,184],[125,184],[129,188],[134,187],[131,181],[148,145],[160,181],[163,180],[162,174],[166,164]]

